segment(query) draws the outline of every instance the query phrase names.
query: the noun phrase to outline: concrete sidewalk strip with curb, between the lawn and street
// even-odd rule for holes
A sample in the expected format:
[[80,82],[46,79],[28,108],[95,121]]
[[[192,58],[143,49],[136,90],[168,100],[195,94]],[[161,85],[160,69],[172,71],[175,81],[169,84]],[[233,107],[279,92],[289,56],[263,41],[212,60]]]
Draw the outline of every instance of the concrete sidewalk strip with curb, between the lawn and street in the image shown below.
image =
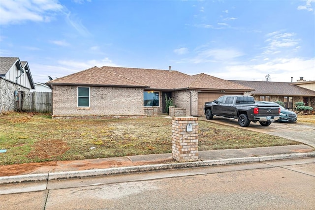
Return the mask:
[[172,158],[171,153],[167,153],[0,166],[0,184],[306,158],[315,157],[315,151],[313,147],[301,144],[199,151],[198,157],[199,161],[179,163]]

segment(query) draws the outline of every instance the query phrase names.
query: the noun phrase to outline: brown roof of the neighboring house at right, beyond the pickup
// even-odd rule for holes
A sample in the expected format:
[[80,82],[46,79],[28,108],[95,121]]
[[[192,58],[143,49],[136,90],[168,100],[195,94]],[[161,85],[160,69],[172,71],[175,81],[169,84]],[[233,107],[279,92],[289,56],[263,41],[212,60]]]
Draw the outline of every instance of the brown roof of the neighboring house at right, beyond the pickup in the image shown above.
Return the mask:
[[287,95],[287,96],[315,96],[315,91],[291,85],[287,82],[265,82],[265,81],[245,81],[230,80],[244,86],[255,89],[252,94],[264,95]]

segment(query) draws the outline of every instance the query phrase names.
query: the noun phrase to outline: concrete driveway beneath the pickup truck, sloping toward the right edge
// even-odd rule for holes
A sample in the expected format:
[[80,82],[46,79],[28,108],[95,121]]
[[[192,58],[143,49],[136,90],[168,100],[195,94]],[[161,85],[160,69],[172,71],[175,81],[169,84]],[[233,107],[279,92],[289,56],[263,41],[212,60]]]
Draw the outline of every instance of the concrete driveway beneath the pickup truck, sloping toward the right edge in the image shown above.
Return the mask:
[[[200,117],[199,120],[206,120],[204,117]],[[252,130],[261,133],[267,133],[274,136],[280,136],[294,141],[302,142],[315,148],[315,125],[306,125],[297,122],[283,123],[273,122],[271,125],[264,127],[259,122],[251,122],[248,127],[241,127],[237,120],[226,119],[221,117],[214,117],[213,120],[206,120],[219,124],[229,125],[242,129]]]

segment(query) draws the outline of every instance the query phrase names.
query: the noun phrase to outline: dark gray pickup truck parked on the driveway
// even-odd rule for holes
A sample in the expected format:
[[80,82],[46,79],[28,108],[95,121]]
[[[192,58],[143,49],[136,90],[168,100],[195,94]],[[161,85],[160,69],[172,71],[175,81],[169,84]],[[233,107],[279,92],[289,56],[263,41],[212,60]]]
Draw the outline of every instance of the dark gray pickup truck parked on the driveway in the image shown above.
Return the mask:
[[279,119],[280,107],[278,104],[257,104],[252,96],[223,95],[217,100],[206,102],[204,112],[208,120],[213,116],[238,119],[242,127],[252,122],[262,126],[269,126]]

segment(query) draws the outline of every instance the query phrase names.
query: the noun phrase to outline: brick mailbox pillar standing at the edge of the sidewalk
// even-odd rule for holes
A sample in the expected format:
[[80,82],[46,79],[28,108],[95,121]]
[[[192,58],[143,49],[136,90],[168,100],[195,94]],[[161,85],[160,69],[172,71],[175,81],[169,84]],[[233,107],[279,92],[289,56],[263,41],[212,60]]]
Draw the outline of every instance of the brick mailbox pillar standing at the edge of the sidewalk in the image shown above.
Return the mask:
[[180,162],[198,160],[198,118],[172,118],[172,157]]

